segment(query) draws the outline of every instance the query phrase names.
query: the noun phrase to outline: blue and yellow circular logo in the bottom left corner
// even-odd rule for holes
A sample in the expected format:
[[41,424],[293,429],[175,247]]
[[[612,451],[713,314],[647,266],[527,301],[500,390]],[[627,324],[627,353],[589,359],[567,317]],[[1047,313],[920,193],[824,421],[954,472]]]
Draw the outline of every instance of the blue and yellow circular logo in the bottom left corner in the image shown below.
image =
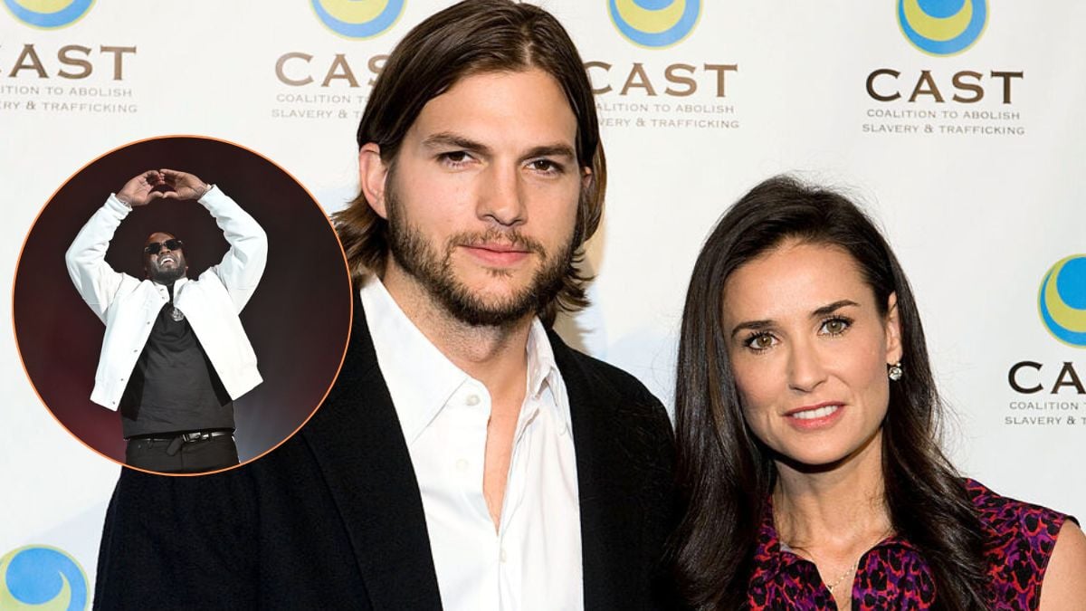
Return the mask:
[[74,558],[49,546],[26,546],[0,558],[0,609],[81,611],[87,574]]

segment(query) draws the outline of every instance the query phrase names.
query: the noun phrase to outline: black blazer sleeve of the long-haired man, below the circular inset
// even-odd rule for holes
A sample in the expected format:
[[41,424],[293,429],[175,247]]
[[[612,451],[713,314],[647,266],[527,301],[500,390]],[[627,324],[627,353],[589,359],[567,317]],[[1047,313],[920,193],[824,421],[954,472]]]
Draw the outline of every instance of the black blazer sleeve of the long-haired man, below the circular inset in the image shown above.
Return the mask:
[[257,608],[255,498],[238,470],[172,477],[122,467],[105,514],[93,608]]

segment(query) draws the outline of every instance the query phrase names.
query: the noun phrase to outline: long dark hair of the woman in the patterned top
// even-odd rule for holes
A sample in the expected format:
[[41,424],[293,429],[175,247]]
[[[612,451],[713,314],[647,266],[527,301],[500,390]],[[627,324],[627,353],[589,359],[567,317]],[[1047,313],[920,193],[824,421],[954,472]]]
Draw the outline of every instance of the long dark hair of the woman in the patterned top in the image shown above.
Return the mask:
[[723,336],[723,287],[740,266],[786,239],[851,254],[880,313],[897,294],[905,376],[883,423],[885,503],[895,531],[931,568],[936,606],[985,608],[981,523],[939,449],[942,402],[909,282],[870,219],[845,197],[770,178],[735,203],[706,240],[690,280],[675,387],[678,477],[686,512],[677,533],[679,587],[697,609],[745,606],[756,537],[775,483],[771,452],[747,428]]

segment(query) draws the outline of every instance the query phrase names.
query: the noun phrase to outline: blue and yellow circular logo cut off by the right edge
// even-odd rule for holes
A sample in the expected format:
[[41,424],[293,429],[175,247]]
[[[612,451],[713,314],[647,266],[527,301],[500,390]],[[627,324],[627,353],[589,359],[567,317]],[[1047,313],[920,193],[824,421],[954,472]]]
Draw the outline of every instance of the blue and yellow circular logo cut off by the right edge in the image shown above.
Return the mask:
[[1052,265],[1037,301],[1040,320],[1056,339],[1086,348],[1086,254],[1072,254]]

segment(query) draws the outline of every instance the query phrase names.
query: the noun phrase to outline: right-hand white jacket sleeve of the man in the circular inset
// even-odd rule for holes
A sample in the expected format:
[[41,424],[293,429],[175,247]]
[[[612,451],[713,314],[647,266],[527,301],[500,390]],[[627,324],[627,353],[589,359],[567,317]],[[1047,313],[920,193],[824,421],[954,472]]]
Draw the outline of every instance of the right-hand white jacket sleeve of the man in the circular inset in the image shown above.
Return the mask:
[[226,257],[212,272],[226,287],[235,310],[240,312],[264,275],[268,257],[267,234],[255,219],[218,187],[212,187],[204,194],[200,203],[215,217],[223,237],[230,245]]

